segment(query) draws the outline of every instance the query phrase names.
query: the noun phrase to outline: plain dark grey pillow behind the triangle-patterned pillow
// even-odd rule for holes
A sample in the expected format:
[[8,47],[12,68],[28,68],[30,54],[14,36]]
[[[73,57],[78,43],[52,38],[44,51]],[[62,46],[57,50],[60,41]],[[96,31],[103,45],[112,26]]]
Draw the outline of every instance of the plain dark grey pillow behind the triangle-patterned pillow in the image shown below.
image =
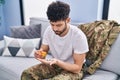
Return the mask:
[[41,24],[11,27],[11,37],[32,39],[41,37]]

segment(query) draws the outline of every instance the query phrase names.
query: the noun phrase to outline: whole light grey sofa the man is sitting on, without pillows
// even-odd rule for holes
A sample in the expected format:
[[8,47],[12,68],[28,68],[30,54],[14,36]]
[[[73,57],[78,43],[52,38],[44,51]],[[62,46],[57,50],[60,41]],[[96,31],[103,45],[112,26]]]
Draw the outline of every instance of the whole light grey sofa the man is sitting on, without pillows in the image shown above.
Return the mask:
[[[49,25],[48,20],[43,18],[30,18],[30,25],[41,24],[41,36]],[[2,55],[4,41],[0,41],[0,54]],[[50,58],[50,55],[47,56]],[[120,34],[112,45],[107,58],[101,67],[93,75],[85,75],[83,80],[120,80]],[[40,63],[31,57],[5,57],[0,56],[0,80],[20,80],[24,69]]]

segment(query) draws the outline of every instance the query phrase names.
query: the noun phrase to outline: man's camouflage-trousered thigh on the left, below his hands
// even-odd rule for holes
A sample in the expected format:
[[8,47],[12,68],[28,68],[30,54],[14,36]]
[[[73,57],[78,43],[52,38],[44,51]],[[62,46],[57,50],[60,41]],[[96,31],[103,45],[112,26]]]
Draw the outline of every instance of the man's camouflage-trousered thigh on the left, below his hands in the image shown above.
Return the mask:
[[57,74],[54,68],[46,64],[38,64],[25,70],[25,72],[34,74],[43,78],[50,78]]

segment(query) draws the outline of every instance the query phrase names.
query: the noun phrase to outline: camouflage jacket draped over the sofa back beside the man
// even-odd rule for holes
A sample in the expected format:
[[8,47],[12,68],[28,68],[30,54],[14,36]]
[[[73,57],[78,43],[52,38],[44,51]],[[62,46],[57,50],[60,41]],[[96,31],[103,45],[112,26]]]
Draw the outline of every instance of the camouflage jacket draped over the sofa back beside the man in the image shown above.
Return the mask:
[[85,71],[93,74],[108,55],[111,45],[120,32],[120,25],[113,20],[101,20],[81,24],[78,28],[86,34],[89,44]]

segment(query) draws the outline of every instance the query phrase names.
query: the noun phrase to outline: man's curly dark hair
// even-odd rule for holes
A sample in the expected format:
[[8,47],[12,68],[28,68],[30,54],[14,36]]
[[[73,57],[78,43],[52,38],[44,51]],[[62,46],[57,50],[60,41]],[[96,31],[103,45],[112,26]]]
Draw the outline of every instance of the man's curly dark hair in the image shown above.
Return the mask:
[[47,9],[48,19],[52,22],[66,20],[69,17],[70,6],[64,2],[52,2]]

